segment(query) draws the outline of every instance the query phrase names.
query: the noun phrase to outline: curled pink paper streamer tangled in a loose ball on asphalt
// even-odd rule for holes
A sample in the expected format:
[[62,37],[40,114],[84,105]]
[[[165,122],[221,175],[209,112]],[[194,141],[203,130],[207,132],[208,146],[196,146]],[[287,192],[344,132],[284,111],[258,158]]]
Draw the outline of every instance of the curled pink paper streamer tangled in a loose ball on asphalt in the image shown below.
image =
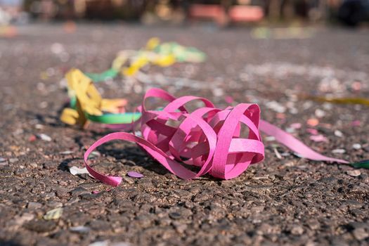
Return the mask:
[[[147,110],[147,98],[160,98],[168,104],[163,110]],[[184,105],[190,101],[202,101],[205,107],[188,112]],[[345,160],[326,157],[304,145],[287,132],[260,120],[257,104],[240,103],[224,110],[215,108],[205,98],[182,96],[174,98],[162,89],[150,89],[138,108],[142,116],[132,126],[140,126],[142,138],[127,132],[108,134],[99,139],[84,154],[84,163],[91,176],[111,186],[122,182],[119,176],[106,176],[93,170],[87,163],[91,151],[111,140],[137,143],[143,150],[160,162],[172,174],[181,179],[195,179],[210,174],[219,179],[233,179],[250,164],[264,159],[264,144],[259,131],[274,136],[302,157],[310,160],[348,163]],[[247,138],[240,137],[242,125],[248,130]],[[127,130],[127,125],[120,126]],[[115,129],[118,129],[115,126]],[[196,173],[183,164],[198,167]]]

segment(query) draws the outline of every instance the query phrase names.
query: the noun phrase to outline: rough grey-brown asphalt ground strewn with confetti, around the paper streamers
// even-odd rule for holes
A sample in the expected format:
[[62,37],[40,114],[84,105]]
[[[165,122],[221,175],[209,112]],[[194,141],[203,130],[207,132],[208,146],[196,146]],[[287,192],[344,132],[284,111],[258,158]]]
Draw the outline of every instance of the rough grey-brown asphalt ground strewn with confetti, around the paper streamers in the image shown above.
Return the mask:
[[[0,39],[0,244],[369,245],[369,171],[301,159],[266,136],[264,162],[230,181],[183,181],[122,142],[98,148],[101,156],[92,161],[124,176],[119,187],[70,174],[69,167],[83,167],[86,146],[107,131],[60,122],[64,73],[105,70],[117,51],[140,48],[153,36],[200,48],[208,60],[149,67],[143,72],[150,79],[104,82],[98,85],[104,97],[129,98],[133,109],[146,89],[161,86],[219,107],[228,105],[227,96],[257,102],[261,117],[321,153],[369,159],[368,107],[296,98],[302,92],[368,96],[368,30],[316,27],[311,39],[287,40],[255,40],[250,31],[84,24],[67,33],[62,25],[39,24]],[[309,119],[319,124],[311,127]],[[302,127],[291,129],[292,123]],[[308,128],[325,141],[311,140]],[[134,179],[128,171],[144,176]],[[46,219],[51,209],[62,212],[59,219]]]

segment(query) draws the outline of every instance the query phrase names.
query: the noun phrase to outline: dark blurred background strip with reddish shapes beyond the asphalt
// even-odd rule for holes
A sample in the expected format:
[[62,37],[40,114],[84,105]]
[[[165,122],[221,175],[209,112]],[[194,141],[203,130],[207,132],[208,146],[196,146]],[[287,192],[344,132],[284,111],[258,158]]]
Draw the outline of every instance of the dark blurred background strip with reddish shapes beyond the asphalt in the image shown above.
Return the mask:
[[369,0],[0,0],[0,25],[33,21],[123,20],[220,27],[260,23],[331,23],[357,27],[369,20]]

